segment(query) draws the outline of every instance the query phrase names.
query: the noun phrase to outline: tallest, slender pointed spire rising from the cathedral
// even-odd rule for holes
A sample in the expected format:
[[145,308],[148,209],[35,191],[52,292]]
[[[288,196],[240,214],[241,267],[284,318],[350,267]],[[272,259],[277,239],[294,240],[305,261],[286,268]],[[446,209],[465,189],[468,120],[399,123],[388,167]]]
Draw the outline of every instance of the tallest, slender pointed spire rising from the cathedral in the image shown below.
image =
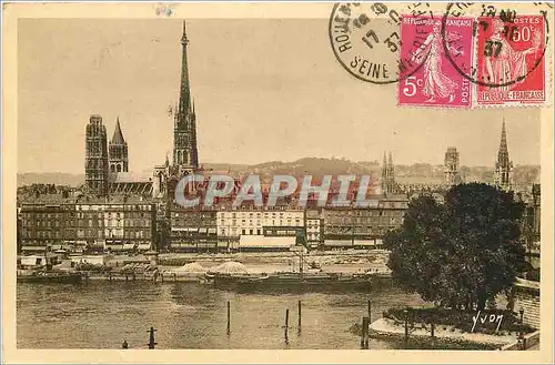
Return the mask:
[[196,114],[194,103],[191,98],[189,82],[189,68],[186,60],[186,38],[185,22],[183,21],[183,36],[181,38],[183,53],[181,59],[181,88],[179,104],[174,110],[173,125],[173,166],[179,170],[179,174],[192,173],[199,169],[199,155],[196,151]]

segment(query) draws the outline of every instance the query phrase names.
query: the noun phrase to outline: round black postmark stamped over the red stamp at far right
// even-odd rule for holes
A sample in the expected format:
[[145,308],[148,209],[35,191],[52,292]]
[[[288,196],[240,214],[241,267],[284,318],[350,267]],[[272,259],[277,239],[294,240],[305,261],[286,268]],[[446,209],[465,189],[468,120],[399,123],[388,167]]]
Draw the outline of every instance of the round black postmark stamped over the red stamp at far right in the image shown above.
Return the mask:
[[[535,7],[541,7],[536,3]],[[509,9],[497,9],[485,3],[448,3],[442,17],[442,42],[444,54],[453,68],[466,80],[487,88],[511,88],[523,82],[544,62],[549,43],[547,11],[536,14],[518,13],[518,4]],[[448,52],[450,21],[476,16],[473,37],[476,40],[476,59],[473,64],[463,64]]]

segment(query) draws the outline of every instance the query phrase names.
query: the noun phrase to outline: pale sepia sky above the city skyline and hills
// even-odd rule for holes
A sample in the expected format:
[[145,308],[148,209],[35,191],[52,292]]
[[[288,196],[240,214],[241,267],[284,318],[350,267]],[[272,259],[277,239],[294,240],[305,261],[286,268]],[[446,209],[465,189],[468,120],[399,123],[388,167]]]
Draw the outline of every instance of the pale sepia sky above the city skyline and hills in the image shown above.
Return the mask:
[[[131,171],[172,151],[182,21],[19,21],[19,172],[84,171],[84,131],[119,115]],[[305,156],[493,165],[502,120],[515,164],[539,164],[539,111],[397,108],[396,84],[350,75],[335,60],[327,20],[188,21],[200,163]]]

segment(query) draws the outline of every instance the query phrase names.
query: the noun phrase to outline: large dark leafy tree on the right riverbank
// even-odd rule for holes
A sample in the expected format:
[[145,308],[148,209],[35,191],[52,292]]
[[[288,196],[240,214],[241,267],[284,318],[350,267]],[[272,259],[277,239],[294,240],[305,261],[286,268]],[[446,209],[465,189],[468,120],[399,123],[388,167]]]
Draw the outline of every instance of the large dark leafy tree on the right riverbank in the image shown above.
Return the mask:
[[441,306],[483,310],[525,270],[523,211],[513,193],[482,183],[452,187],[444,203],[412,201],[384,239],[393,280]]

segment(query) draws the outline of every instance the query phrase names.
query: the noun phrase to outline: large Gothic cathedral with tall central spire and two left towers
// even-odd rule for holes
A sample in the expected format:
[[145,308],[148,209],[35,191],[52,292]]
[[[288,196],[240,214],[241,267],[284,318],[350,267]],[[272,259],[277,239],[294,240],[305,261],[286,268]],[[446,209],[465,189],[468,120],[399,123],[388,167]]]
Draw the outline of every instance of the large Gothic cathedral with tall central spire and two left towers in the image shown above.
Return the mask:
[[173,156],[170,163],[154,166],[153,175],[143,176],[129,171],[128,142],[118,118],[112,140],[108,142],[102,116],[93,114],[87,125],[85,138],[85,193],[98,196],[142,195],[165,199],[173,195],[179,180],[199,171],[196,150],[196,114],[191,98],[186,58],[185,23],[181,37],[181,81],[179,103],[173,113]]

